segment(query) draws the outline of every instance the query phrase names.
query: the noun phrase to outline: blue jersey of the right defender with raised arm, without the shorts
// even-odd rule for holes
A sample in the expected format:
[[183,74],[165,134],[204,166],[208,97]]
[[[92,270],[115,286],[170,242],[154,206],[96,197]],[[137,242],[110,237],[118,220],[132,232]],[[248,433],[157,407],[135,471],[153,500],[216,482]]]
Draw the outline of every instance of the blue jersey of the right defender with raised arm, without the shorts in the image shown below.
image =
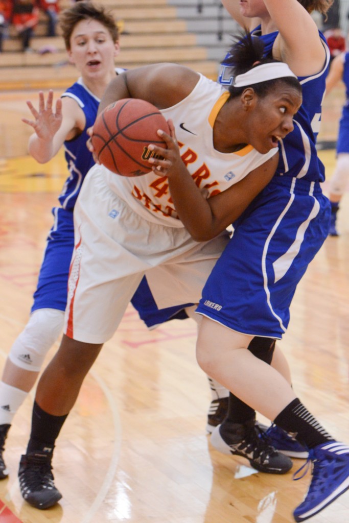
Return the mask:
[[[261,26],[256,27],[252,34],[264,42],[264,55],[272,57],[273,45],[278,31],[261,35]],[[324,42],[326,60],[323,69],[311,76],[298,77],[302,86],[303,103],[294,117],[295,129],[282,140],[279,145],[280,157],[276,174],[303,178],[309,181],[323,181],[325,169],[316,151],[316,140],[320,130],[321,104],[328,74],[330,51],[327,42],[319,31]],[[229,53],[224,60],[229,58]],[[222,62],[218,81],[225,86],[232,84],[231,66]]]

